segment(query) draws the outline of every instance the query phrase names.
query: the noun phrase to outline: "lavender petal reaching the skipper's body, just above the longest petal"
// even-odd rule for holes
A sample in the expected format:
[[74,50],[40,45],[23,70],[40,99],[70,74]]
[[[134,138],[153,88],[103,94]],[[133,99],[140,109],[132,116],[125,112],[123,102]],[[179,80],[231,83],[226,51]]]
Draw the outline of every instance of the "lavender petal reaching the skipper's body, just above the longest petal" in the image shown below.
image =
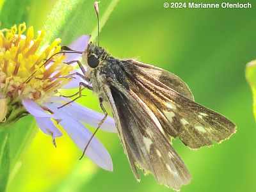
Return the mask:
[[[51,97],[47,101],[54,102],[55,104],[56,102],[59,102],[59,104],[56,105],[60,107],[66,102],[70,101],[70,99],[65,97]],[[73,116],[77,120],[91,125],[92,127],[98,127],[100,120],[102,120],[104,117],[104,114],[85,108],[84,106],[77,104],[77,102],[72,102],[61,109],[63,109],[70,116]],[[101,125],[100,129],[102,131],[116,132],[115,121],[113,118],[108,116],[108,118],[106,118],[104,123]]]

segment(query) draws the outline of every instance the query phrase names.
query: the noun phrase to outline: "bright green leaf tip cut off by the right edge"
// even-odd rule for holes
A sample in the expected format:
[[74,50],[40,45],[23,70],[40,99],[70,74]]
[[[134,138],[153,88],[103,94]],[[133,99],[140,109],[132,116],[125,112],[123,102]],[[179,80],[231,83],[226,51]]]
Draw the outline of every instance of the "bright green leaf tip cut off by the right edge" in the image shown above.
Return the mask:
[[246,65],[246,79],[251,86],[253,93],[253,113],[256,118],[256,60]]

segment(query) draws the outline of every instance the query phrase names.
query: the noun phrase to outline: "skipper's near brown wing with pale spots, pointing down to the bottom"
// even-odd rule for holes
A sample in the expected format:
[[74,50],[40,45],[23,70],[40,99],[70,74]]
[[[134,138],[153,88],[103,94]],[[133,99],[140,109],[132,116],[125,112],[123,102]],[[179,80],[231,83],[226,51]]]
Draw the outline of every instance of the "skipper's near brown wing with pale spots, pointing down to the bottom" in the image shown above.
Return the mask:
[[144,173],[152,173],[160,184],[170,188],[178,190],[188,184],[191,180],[188,169],[161,132],[156,116],[152,112],[145,113],[147,106],[132,90],[129,92],[118,83],[110,90],[109,97],[113,100],[109,99],[109,102],[116,109],[113,116],[120,120],[117,128],[122,131],[120,138],[136,178],[139,179],[137,165]]

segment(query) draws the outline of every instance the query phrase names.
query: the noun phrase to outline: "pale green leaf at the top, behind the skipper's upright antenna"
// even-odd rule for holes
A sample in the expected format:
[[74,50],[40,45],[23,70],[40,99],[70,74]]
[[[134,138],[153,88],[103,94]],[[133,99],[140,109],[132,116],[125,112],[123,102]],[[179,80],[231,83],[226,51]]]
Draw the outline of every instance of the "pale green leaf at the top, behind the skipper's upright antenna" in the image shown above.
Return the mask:
[[[100,28],[104,26],[110,13],[118,0],[102,1],[100,6]],[[93,8],[94,1],[58,1],[44,25],[47,40],[56,37],[62,39],[67,45],[80,35],[92,35],[91,40],[97,36],[97,17]],[[60,17],[61,15],[61,17]]]

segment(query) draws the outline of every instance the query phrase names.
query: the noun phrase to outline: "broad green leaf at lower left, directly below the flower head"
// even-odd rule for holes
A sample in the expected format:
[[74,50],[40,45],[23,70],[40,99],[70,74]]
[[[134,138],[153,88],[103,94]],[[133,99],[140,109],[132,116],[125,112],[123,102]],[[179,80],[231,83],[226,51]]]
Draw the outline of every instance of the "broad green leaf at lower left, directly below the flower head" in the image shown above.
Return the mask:
[[10,184],[18,172],[20,159],[38,130],[33,116],[30,115],[8,125],[5,129],[6,131],[0,132],[0,149],[3,148],[3,157],[0,150],[0,192]]

